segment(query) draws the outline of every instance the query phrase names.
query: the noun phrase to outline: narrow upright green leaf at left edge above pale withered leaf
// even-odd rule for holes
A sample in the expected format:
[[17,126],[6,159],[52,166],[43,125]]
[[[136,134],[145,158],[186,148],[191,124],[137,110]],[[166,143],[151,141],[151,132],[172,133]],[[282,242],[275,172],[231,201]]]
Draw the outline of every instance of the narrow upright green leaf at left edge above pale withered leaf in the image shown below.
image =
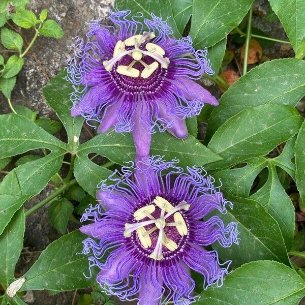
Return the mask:
[[0,235],[0,283],[6,289],[15,281],[14,271],[23,247],[24,209],[19,209]]

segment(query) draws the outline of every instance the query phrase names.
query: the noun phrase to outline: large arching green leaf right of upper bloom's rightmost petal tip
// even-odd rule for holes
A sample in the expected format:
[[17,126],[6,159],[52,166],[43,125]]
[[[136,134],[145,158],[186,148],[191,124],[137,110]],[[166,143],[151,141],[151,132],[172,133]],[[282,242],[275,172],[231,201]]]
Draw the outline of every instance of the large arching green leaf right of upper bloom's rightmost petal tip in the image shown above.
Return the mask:
[[242,109],[263,104],[295,106],[305,95],[305,62],[294,58],[271,60],[240,77],[211,113],[207,138]]

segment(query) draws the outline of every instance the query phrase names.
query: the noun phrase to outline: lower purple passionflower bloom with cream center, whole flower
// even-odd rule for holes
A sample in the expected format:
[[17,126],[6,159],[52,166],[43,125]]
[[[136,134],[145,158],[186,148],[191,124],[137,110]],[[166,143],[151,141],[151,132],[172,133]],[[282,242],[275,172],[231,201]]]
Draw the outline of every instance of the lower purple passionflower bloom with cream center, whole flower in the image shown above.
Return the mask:
[[83,241],[83,254],[93,254],[88,260],[100,268],[97,282],[121,300],[189,304],[195,300],[191,269],[203,276],[204,289],[221,286],[228,273],[231,261],[221,263],[205,247],[238,243],[237,224],[225,226],[217,216],[232,204],[203,168],[183,172],[176,163],[150,157],[136,176],[123,167],[121,178],[116,172],[101,183],[99,204],[82,216],[94,222],[80,230],[97,239]]

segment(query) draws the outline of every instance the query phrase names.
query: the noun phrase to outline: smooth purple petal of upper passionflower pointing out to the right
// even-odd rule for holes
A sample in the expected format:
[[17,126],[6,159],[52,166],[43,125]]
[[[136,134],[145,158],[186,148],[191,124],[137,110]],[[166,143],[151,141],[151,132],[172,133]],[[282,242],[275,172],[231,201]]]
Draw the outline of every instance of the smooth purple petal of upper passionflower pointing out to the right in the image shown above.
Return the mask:
[[219,102],[212,96],[208,90],[197,84],[195,81],[188,77],[177,77],[179,83],[177,85],[182,90],[187,100],[202,100],[203,103],[218,106]]

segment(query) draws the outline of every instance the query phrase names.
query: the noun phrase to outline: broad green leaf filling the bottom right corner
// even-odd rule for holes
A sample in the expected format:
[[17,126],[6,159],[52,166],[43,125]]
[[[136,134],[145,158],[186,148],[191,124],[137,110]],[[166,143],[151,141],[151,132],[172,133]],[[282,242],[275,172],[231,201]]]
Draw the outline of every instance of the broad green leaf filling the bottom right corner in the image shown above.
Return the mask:
[[273,261],[242,265],[226,276],[224,285],[211,286],[195,304],[297,305],[305,295],[305,283],[291,268]]

